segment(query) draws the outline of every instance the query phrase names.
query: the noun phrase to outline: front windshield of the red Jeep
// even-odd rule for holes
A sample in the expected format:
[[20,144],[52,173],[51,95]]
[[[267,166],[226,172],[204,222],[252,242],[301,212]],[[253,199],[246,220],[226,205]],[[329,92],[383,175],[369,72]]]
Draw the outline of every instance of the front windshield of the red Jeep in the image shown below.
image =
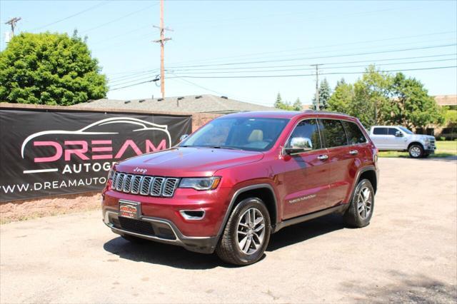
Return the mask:
[[206,124],[179,146],[267,151],[287,123],[288,119],[282,118],[219,118]]

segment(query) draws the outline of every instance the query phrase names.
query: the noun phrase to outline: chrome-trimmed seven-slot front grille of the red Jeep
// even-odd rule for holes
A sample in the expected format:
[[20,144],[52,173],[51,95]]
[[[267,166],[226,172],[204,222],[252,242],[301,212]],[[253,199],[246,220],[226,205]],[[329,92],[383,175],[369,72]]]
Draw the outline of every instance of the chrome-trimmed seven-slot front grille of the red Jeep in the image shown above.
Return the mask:
[[142,196],[162,196],[171,198],[178,188],[179,178],[166,178],[161,176],[137,176],[116,172],[113,176],[111,189]]

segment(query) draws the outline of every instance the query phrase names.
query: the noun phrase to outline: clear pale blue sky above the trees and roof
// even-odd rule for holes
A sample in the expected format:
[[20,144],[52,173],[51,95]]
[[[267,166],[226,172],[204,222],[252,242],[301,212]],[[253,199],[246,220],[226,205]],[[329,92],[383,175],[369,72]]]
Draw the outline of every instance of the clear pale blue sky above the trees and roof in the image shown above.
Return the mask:
[[[152,42],[159,1],[2,0],[1,49],[4,22],[14,16],[22,18],[16,32],[87,35],[113,89],[159,74],[159,45]],[[332,87],[377,64],[418,78],[432,95],[457,91],[457,1],[165,1],[165,25],[174,29],[167,33],[166,96],[214,93],[271,106],[280,92],[311,103],[312,64],[323,64],[320,78]],[[215,78],[221,76],[237,78]],[[160,95],[155,83],[108,93],[152,95]]]

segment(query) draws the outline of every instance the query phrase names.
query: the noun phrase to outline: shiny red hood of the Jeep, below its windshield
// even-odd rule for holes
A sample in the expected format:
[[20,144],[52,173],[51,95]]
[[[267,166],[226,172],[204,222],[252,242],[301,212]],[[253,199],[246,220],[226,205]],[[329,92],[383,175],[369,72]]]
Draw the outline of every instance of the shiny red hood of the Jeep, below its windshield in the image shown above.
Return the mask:
[[[212,176],[219,169],[260,161],[263,153],[219,148],[171,148],[122,161],[116,171],[150,176]],[[141,172],[141,171],[140,171]],[[141,174],[141,173],[138,173]]]

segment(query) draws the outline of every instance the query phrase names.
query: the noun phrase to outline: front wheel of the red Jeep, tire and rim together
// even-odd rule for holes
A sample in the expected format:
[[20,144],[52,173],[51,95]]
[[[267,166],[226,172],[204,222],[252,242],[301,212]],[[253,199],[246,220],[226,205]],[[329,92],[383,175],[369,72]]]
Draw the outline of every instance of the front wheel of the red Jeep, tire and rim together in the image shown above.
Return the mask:
[[216,253],[227,263],[256,263],[263,256],[270,233],[270,215],[263,201],[246,198],[233,209]]

